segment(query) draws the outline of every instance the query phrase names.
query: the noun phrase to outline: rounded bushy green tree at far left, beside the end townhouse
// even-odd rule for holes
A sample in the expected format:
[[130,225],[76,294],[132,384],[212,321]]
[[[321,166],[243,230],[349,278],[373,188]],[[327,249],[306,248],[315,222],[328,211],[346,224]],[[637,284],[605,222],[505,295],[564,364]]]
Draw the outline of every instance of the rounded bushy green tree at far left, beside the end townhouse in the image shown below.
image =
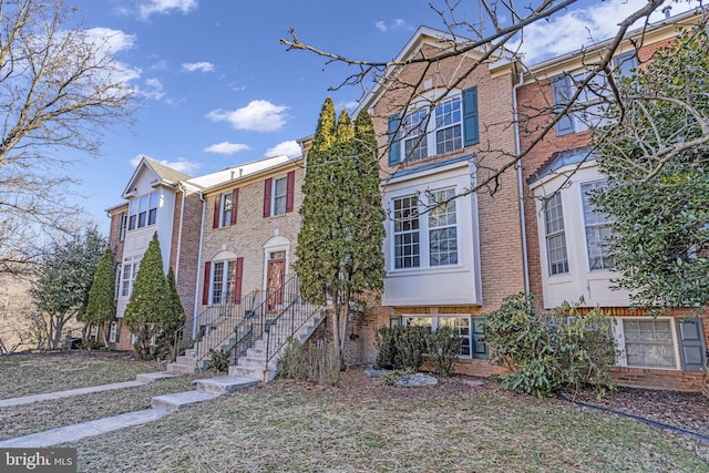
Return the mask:
[[60,237],[44,248],[30,289],[39,311],[38,345],[60,348],[65,325],[82,319],[94,273],[106,247],[105,237],[90,228],[81,235]]

